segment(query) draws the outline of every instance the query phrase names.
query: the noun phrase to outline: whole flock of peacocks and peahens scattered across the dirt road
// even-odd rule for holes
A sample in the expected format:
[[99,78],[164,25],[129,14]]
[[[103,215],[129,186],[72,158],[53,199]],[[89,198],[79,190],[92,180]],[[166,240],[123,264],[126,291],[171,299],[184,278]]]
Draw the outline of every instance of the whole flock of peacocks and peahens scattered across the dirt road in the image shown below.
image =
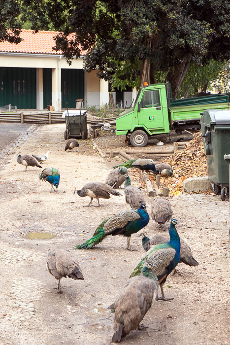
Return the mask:
[[[66,142],[65,150],[74,149],[79,144],[76,139]],[[19,155],[17,162],[26,166],[42,168],[40,164],[48,159],[47,152],[44,156]],[[122,210],[114,216],[103,220],[97,227],[92,238],[82,244],[75,245],[74,249],[91,249],[102,242],[107,236],[123,235],[128,239],[127,249],[131,250],[131,235],[140,232],[149,223],[150,217],[146,210],[144,195],[139,187],[131,183],[130,168],[139,168],[140,171],[152,171],[155,174],[171,176],[172,168],[168,164],[155,165],[151,159],[136,159],[114,167],[103,182],[86,183],[80,190],[74,191],[80,197],[93,199],[109,199],[110,195],[121,196],[117,189],[124,183],[126,203],[131,206],[129,210]],[[51,192],[60,181],[60,172],[55,168],[45,168],[39,179],[51,184]],[[172,218],[172,207],[168,199],[157,197],[151,203],[151,217],[161,227]],[[137,266],[133,269],[129,280],[124,285],[116,301],[109,307],[114,312],[114,334],[112,342],[120,342],[131,330],[143,329],[140,324],[146,312],[156,300],[169,301],[165,298],[163,285],[167,276],[175,270],[179,262],[189,266],[197,266],[198,262],[193,257],[191,248],[180,237],[176,230],[176,219],[171,219],[168,233],[160,233],[149,239],[144,230],[142,246],[146,253],[142,256]],[[50,250],[46,255],[46,266],[49,273],[58,280],[58,292],[61,292],[60,280],[62,277],[84,279],[77,259],[65,249]],[[161,288],[161,297],[158,297],[158,287]]]

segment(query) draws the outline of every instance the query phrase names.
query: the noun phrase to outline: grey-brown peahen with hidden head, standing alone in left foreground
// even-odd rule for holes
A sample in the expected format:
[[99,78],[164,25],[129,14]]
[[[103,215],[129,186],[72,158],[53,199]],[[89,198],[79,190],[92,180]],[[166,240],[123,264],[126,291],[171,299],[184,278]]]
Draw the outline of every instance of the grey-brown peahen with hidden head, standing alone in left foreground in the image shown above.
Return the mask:
[[46,267],[49,273],[58,280],[58,292],[61,291],[60,280],[63,277],[84,280],[77,259],[70,254],[69,250],[50,250],[45,257]]

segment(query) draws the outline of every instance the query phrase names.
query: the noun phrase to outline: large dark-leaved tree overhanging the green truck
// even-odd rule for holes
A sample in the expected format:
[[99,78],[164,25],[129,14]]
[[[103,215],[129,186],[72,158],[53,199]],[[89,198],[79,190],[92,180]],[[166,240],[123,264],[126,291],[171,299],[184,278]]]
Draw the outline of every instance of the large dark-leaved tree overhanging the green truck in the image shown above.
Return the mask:
[[[8,0],[9,2],[13,0]],[[166,73],[173,98],[191,63],[230,58],[226,0],[22,0],[32,28],[51,25],[69,63],[85,51],[85,69],[106,80],[151,83]],[[128,68],[127,68],[128,66]]]

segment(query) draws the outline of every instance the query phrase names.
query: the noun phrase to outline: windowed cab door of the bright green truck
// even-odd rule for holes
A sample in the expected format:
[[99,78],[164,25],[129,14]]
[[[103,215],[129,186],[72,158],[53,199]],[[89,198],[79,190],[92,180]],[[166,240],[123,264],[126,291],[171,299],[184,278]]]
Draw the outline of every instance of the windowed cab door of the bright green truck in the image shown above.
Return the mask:
[[138,124],[148,129],[163,128],[164,117],[160,90],[144,90],[139,102]]

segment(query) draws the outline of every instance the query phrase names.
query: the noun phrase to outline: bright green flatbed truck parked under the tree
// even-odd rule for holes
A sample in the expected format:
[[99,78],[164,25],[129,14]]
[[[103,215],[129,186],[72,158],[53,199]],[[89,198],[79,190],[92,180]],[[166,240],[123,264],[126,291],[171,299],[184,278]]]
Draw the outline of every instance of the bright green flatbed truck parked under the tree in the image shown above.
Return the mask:
[[142,87],[134,105],[116,119],[116,135],[126,135],[131,145],[143,147],[154,135],[199,128],[200,112],[205,109],[227,109],[226,95],[210,95],[172,101],[170,85]]

